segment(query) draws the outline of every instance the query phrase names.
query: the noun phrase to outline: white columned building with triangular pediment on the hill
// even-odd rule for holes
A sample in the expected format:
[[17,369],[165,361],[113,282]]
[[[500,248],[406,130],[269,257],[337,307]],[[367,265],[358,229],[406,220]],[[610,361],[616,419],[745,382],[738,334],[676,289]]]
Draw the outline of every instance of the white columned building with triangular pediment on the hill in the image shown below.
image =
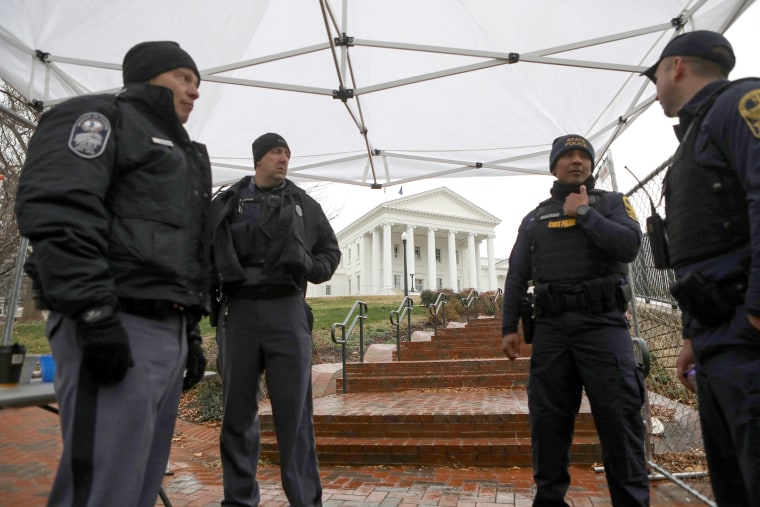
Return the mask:
[[307,296],[403,294],[404,282],[409,292],[503,288],[507,260],[494,257],[500,222],[446,187],[388,201],[336,234],[341,263]]

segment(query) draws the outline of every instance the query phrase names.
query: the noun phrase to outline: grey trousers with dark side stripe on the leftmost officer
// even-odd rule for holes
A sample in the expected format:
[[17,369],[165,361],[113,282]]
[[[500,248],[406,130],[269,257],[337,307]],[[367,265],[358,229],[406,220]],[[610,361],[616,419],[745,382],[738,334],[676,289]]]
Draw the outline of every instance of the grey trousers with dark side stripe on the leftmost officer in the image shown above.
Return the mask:
[[156,504],[182,392],[184,319],[180,314],[118,316],[129,336],[134,366],[121,382],[109,386],[94,384],[80,368],[76,322],[56,312],[48,317],[63,436],[49,506]]

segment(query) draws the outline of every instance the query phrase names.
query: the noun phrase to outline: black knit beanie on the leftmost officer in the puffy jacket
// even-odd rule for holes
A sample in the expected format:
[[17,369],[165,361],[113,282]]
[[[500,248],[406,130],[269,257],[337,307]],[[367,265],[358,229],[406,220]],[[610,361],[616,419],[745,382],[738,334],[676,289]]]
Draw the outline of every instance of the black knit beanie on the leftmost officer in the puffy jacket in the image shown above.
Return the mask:
[[198,77],[198,67],[187,52],[173,41],[141,42],[124,55],[121,65],[124,84],[144,83],[152,77],[179,67],[187,67]]

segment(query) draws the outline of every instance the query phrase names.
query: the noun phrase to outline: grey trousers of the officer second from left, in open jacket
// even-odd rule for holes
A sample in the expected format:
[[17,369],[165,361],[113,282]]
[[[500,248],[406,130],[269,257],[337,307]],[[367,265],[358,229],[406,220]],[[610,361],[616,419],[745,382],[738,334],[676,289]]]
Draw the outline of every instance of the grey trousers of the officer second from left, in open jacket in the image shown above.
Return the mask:
[[229,299],[217,327],[224,415],[222,505],[256,506],[259,380],[265,372],[282,488],[294,507],[322,505],[311,391],[311,310],[303,296]]

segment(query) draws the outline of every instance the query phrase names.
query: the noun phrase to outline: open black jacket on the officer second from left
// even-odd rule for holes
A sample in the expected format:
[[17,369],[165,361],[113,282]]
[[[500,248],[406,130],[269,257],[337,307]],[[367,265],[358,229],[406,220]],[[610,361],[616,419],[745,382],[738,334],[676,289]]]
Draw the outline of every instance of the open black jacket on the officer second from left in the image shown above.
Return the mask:
[[[251,185],[246,176],[214,198],[212,204],[214,286],[218,289],[246,283],[246,269],[232,240],[230,222],[239,212],[240,195]],[[329,280],[340,262],[340,247],[332,226],[317,201],[290,180],[281,193],[276,227],[263,245],[263,271],[274,283],[287,281],[303,292],[306,282]]]

